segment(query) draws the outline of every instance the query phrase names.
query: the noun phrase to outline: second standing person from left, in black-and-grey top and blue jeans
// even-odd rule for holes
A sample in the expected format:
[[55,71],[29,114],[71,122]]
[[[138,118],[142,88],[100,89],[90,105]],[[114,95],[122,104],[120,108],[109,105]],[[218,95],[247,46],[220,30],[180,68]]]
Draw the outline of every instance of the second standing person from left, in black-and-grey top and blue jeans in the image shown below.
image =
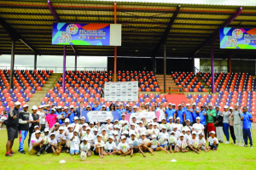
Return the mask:
[[19,116],[19,131],[20,131],[20,147],[19,152],[20,154],[26,154],[26,152],[23,149],[24,141],[26,139],[28,130],[29,130],[29,113],[27,112],[28,105],[23,105],[23,111],[20,111]]

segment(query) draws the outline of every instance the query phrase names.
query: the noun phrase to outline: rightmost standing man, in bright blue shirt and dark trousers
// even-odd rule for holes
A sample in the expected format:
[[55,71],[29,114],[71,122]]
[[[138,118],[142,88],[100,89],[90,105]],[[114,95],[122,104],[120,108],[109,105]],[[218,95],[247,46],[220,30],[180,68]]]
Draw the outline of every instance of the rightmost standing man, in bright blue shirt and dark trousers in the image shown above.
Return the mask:
[[252,122],[253,122],[253,116],[251,113],[247,112],[247,106],[244,106],[242,108],[242,114],[241,114],[241,121],[242,121],[242,133],[243,133],[243,139],[244,139],[244,147],[248,147],[247,139],[250,140],[250,148],[253,149],[253,139],[252,139]]

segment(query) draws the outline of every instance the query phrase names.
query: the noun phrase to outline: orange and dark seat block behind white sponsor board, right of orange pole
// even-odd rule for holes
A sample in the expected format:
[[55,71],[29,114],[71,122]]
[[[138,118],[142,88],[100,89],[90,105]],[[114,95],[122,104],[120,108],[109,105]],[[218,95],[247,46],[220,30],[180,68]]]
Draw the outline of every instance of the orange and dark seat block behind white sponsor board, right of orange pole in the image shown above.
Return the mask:
[[160,92],[153,71],[118,71],[118,82],[139,82],[139,91]]

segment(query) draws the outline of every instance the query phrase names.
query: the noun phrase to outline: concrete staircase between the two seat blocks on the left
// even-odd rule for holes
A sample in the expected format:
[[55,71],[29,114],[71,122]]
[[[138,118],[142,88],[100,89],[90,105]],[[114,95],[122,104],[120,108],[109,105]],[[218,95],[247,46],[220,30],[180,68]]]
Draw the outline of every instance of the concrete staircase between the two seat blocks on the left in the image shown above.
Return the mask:
[[62,73],[53,73],[49,76],[48,81],[44,84],[44,88],[41,91],[36,91],[35,94],[32,95],[32,98],[29,102],[26,102],[27,105],[32,107],[32,105],[40,105],[45,97],[45,94],[48,93],[50,88],[54,88],[55,84],[58,82],[59,78],[61,77]]

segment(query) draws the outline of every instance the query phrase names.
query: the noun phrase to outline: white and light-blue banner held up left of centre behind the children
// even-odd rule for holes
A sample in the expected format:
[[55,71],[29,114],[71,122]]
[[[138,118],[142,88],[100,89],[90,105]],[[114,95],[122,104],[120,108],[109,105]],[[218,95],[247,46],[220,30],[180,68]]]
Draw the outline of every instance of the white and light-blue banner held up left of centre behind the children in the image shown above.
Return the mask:
[[111,122],[119,120],[118,111],[82,111],[82,116],[85,117],[85,122],[107,122],[107,118],[110,118]]

